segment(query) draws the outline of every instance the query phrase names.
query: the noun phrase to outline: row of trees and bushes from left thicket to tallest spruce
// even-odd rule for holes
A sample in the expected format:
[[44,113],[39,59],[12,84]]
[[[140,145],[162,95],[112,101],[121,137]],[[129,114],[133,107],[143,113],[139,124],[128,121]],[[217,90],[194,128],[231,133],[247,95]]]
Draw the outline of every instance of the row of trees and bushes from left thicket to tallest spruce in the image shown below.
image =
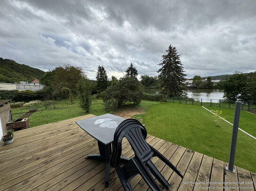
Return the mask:
[[[45,84],[43,90],[37,95],[42,99],[70,99],[79,100],[80,107],[85,111],[90,110],[92,96],[101,97],[107,109],[119,108],[126,102],[140,104],[143,98],[144,87],[159,87],[166,96],[181,96],[185,89],[185,74],[180,61],[180,55],[175,47],[169,46],[166,55],[162,56],[162,62],[158,64],[160,69],[157,77],[142,75],[138,80],[138,71],[131,63],[124,71],[125,75],[120,79],[115,76],[107,77],[103,66],[98,67],[96,82],[89,80],[81,67],[71,65],[58,66],[45,72],[41,77],[41,84]],[[162,99],[161,96],[146,99]]]

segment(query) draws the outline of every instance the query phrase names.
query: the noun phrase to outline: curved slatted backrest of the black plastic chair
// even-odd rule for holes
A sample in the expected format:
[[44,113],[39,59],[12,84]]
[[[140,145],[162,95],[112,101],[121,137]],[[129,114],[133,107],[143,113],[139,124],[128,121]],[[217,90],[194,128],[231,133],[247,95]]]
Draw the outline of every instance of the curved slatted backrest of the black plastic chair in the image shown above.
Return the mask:
[[127,138],[134,153],[142,160],[148,160],[152,156],[152,149],[145,141],[147,130],[135,119],[126,119],[116,128],[114,135],[112,166],[119,162],[122,153],[122,140]]

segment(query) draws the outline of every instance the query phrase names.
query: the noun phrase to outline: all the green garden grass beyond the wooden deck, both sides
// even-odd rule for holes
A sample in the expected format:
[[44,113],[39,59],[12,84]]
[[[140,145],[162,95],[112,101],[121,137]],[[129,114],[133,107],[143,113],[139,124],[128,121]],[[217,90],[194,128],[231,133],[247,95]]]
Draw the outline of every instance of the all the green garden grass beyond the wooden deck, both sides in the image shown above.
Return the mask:
[[[66,103],[69,108],[66,107]],[[150,135],[225,162],[228,162],[229,159],[232,126],[223,120],[220,123],[221,127],[215,126],[216,122],[211,117],[212,114],[200,106],[142,100],[139,106],[127,103],[115,111],[106,111],[103,101],[99,99],[93,101],[89,113],[78,107],[76,101],[71,105],[67,100],[57,101],[56,108],[58,109],[45,109],[43,104],[33,107],[37,107],[38,111],[29,118],[31,127],[81,115],[103,115],[140,108],[146,110],[147,114],[134,115],[134,117],[146,125]],[[207,108],[217,109],[215,107]],[[26,107],[22,111],[27,112],[29,109],[30,107]],[[234,109],[220,108],[219,110],[222,110],[222,116],[232,123]],[[12,109],[13,114],[20,111],[20,108]],[[23,114],[13,116],[20,115]],[[255,125],[256,115],[241,111],[239,127],[255,136]],[[256,172],[255,148],[256,141],[239,131],[235,165]]]

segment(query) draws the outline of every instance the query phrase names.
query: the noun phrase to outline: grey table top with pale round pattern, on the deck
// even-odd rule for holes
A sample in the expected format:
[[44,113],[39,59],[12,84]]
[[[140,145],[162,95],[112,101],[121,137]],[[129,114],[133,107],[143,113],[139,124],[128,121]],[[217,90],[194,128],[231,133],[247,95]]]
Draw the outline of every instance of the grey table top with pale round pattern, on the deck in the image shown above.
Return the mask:
[[114,141],[114,134],[118,125],[125,118],[112,114],[99,115],[77,121],[79,127],[104,145]]

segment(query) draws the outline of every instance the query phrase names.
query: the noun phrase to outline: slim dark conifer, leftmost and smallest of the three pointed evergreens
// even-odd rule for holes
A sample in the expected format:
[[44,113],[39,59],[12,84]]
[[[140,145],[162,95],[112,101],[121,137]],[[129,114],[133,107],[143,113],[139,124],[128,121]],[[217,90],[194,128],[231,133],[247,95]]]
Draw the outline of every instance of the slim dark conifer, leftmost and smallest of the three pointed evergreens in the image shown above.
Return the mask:
[[97,92],[100,93],[105,91],[107,89],[107,72],[103,66],[98,67],[96,79],[97,79],[97,85],[96,85]]

